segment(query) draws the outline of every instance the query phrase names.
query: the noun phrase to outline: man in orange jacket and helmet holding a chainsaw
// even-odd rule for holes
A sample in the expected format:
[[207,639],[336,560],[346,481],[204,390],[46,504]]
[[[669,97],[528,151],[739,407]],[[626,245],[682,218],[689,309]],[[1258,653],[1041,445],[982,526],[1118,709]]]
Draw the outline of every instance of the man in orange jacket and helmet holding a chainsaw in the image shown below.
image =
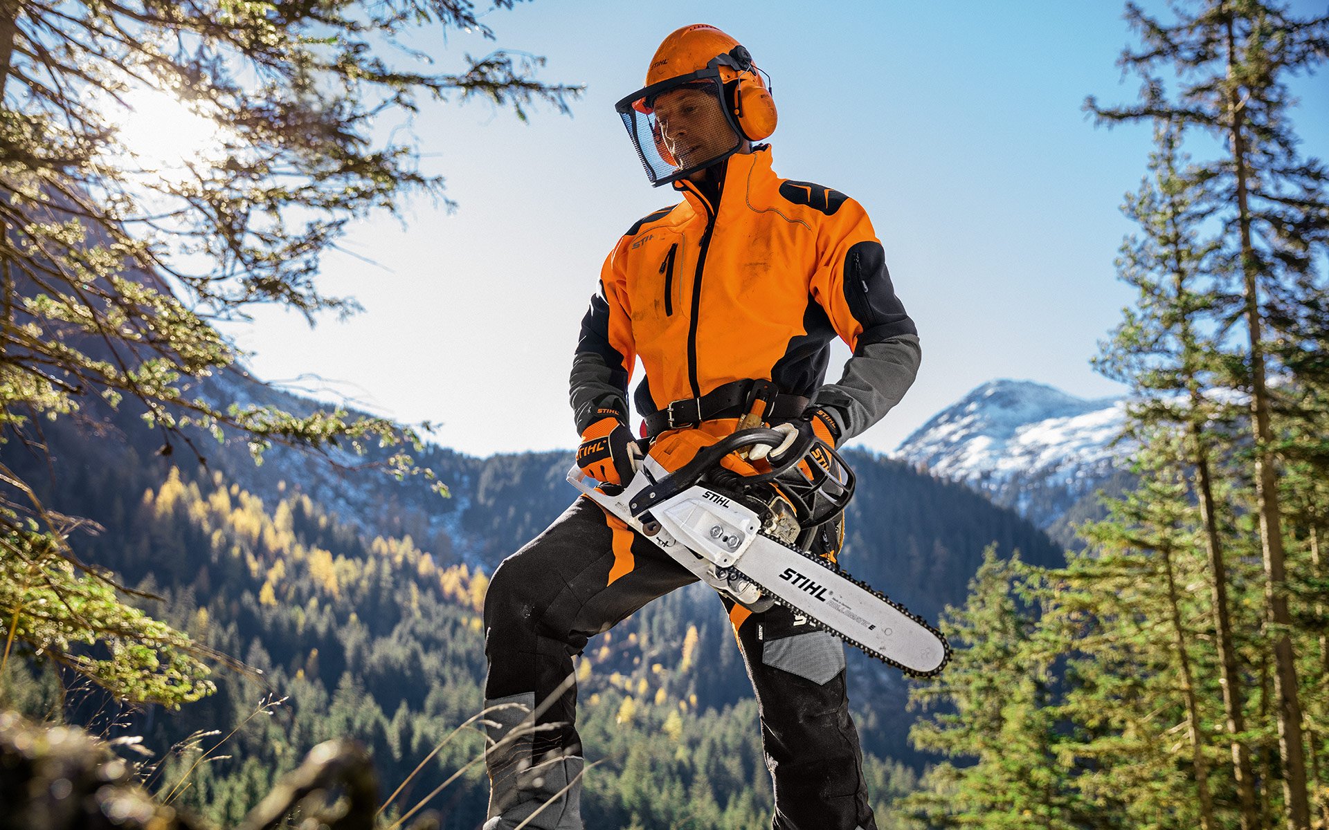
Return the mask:
[[[627,426],[637,359],[646,377],[635,400],[653,457],[734,432],[764,386],[758,381],[775,386],[764,420],[789,440],[759,448],[752,461],[780,459],[808,432],[839,445],[881,418],[913,382],[917,331],[863,207],[776,177],[769,146],[754,145],[773,131],[776,113],[747,49],[714,27],[679,29],[657,50],[646,86],[618,110],[647,177],[684,201],[619,239],[582,320],[571,371],[582,469],[602,486],[621,486],[637,469],[647,444]],[[835,336],[853,356],[837,384],[823,385]],[[829,525],[815,548],[833,559],[840,538],[839,523]],[[512,830],[533,814],[529,827],[582,827],[573,656],[590,636],[692,582],[587,498],[500,566],[485,600],[485,696],[488,705],[516,705],[493,713],[500,742],[488,757],[485,830]],[[772,826],[876,827],[840,641],[779,606],[726,607],[760,709]]]

